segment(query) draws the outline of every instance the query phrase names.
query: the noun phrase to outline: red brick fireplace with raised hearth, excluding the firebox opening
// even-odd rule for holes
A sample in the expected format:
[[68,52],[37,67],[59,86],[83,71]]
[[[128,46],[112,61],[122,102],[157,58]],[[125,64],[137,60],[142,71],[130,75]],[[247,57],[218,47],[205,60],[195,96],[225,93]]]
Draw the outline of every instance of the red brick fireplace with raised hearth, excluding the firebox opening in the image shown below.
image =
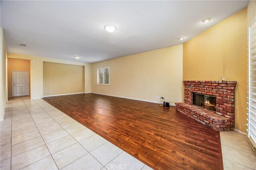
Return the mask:
[[[184,103],[176,103],[181,113],[216,131],[234,130],[236,81],[183,81]],[[216,112],[193,105],[193,93],[216,97]]]

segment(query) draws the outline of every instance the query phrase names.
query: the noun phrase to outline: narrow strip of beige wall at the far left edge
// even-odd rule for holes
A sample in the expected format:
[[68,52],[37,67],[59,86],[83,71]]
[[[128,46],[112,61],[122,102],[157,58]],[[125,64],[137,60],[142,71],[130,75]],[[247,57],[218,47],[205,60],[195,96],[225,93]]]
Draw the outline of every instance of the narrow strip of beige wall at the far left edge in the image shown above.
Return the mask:
[[0,27],[0,121],[4,119],[7,102],[7,50],[4,39],[4,30]]

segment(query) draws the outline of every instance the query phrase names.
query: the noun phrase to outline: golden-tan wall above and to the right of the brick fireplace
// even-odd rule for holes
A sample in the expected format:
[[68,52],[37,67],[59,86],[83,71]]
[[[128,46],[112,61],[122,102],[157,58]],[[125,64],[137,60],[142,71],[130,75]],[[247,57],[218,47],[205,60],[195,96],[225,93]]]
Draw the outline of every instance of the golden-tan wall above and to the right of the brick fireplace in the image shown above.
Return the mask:
[[[183,80],[236,80],[235,128],[246,133],[247,8],[184,43]],[[239,113],[239,116],[238,116]]]

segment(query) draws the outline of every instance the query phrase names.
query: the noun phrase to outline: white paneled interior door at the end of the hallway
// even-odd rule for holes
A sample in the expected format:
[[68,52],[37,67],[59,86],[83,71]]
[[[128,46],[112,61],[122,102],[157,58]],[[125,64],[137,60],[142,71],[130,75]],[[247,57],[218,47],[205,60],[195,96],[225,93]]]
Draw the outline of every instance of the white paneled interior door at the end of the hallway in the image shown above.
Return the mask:
[[28,95],[28,72],[27,71],[13,72],[13,95],[14,96]]

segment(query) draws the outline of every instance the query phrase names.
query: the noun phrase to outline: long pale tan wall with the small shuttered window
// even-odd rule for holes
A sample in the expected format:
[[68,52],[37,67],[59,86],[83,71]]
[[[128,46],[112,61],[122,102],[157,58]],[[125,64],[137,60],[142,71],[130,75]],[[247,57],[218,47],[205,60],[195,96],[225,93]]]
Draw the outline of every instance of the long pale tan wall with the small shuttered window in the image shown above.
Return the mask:
[[[110,86],[97,85],[97,68],[110,67]],[[92,92],[174,104],[182,100],[182,45],[92,64]]]

